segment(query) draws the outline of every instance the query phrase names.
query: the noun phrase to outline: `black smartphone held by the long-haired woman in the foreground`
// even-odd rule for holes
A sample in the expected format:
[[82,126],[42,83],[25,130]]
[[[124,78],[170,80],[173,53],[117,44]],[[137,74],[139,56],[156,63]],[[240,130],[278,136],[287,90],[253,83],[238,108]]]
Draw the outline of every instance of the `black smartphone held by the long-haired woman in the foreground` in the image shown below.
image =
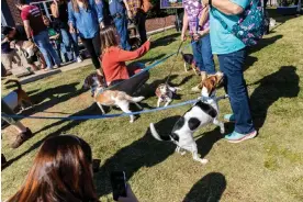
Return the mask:
[[119,197],[126,197],[126,177],[124,171],[111,172],[111,183],[113,200],[117,201]]

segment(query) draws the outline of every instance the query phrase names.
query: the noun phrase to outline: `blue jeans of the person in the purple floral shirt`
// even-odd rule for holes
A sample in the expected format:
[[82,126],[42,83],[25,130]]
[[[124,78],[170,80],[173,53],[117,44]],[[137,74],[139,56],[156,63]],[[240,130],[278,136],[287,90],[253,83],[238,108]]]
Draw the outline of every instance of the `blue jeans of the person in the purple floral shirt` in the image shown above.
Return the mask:
[[210,34],[192,44],[192,53],[200,71],[206,71],[207,75],[215,74]]

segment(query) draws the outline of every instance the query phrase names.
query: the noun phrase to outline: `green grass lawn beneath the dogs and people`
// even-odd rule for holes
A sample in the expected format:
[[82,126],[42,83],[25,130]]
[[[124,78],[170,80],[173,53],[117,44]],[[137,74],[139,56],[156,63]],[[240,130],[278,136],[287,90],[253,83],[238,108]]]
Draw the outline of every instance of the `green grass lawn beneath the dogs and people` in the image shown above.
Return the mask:
[[[35,136],[18,149],[11,149],[14,130],[8,127],[2,136],[2,153],[10,166],[2,170],[2,200],[12,195],[22,184],[38,147],[48,136],[75,134],[87,141],[93,158],[101,159],[96,184],[101,201],[112,201],[109,172],[125,170],[134,192],[142,202],[226,201],[226,202],[300,202],[303,201],[303,18],[278,19],[278,26],[249,52],[245,77],[259,135],[240,144],[222,139],[213,125],[194,135],[199,153],[210,160],[202,166],[187,154],[175,154],[175,145],[155,141],[148,132],[150,122],[168,133],[179,115],[190,106],[141,115],[130,124],[128,117],[89,121],[22,120]],[[153,49],[143,58],[152,63],[172,52],[179,45],[179,34],[167,31],[153,37]],[[187,49],[186,52],[190,52]],[[150,71],[150,89],[161,82],[175,58]],[[218,65],[217,65],[218,68]],[[100,114],[92,104],[90,92],[81,85],[93,67],[55,75],[24,85],[35,102],[35,115]],[[199,77],[184,72],[181,58],[172,72],[171,83],[180,86],[181,99],[198,98],[190,88]],[[2,93],[11,89],[2,85]],[[218,94],[223,94],[223,89]],[[153,92],[143,103],[156,105]],[[227,100],[220,103],[221,117],[231,112]],[[113,110],[109,113],[120,113]],[[226,124],[227,131],[233,125]],[[301,191],[300,191],[301,190]]]

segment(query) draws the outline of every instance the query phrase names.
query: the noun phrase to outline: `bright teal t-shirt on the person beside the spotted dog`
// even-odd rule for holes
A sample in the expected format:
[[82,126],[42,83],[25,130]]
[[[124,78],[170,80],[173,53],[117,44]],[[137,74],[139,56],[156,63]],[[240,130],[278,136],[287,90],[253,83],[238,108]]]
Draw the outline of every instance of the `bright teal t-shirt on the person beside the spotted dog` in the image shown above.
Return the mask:
[[[250,0],[231,0],[243,9],[249,5]],[[220,16],[228,27],[232,27],[239,20],[239,15],[226,15],[215,8],[210,11],[210,33],[213,54],[229,54],[245,47],[245,44],[235,35],[225,30],[221,22],[214,16]]]

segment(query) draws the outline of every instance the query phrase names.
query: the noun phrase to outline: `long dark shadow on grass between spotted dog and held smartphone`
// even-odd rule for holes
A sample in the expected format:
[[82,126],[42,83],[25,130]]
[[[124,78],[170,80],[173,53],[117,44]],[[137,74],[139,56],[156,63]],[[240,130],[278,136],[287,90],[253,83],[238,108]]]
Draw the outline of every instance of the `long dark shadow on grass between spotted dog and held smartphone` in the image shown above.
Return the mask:
[[[155,126],[161,133],[170,133],[170,130],[180,116],[171,116],[161,120]],[[123,170],[126,178],[131,179],[133,175],[143,167],[153,167],[162,162],[173,154],[176,146],[171,143],[156,141],[149,128],[142,138],[133,142],[131,145],[121,148],[112,157],[105,160],[100,168],[100,172],[94,173],[97,192],[99,197],[112,192],[110,183],[110,173],[114,170]]]

